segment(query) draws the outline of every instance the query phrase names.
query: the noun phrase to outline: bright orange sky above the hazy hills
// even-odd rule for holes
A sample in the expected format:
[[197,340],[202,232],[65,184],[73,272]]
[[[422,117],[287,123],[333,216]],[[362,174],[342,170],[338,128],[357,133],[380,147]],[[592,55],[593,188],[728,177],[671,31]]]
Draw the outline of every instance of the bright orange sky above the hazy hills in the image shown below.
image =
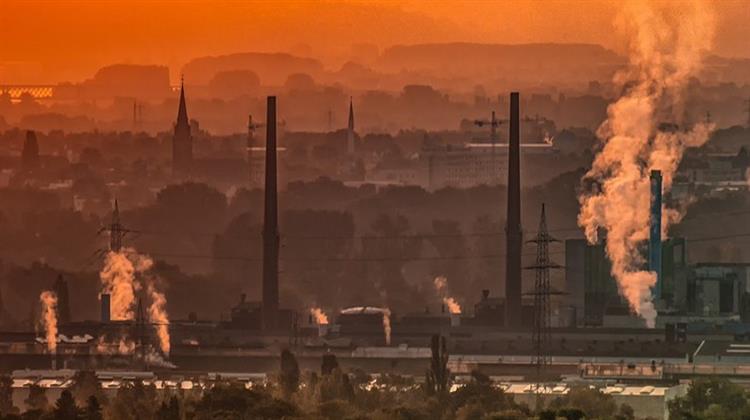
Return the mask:
[[[305,51],[331,65],[352,43],[590,42],[622,49],[620,1],[0,0],[0,83],[90,77],[116,62],[165,64],[239,51]],[[664,1],[678,10],[682,1]],[[750,56],[750,0],[712,2],[715,51]],[[3,71],[4,69],[4,71]],[[19,69],[22,69],[19,70]],[[12,74],[27,80],[2,80]]]

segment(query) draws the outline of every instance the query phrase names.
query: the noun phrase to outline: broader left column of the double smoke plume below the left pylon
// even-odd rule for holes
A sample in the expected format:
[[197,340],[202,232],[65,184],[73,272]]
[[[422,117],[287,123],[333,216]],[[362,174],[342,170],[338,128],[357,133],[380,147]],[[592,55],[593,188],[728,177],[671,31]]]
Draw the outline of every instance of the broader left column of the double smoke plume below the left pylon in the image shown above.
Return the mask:
[[109,251],[99,273],[102,292],[109,293],[113,321],[134,319],[135,294],[141,289],[137,273],[147,271],[153,261],[132,248]]

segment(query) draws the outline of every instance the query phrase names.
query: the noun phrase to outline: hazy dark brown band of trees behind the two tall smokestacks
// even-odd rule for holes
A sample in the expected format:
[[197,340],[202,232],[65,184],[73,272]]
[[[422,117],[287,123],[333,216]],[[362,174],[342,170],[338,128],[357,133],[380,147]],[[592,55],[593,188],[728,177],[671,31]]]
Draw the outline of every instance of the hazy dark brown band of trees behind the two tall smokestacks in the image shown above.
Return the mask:
[[[580,172],[568,173],[525,190],[530,234],[547,201],[555,203],[551,228],[561,229],[561,237],[579,235],[579,178]],[[109,215],[74,211],[53,193],[24,188],[2,189],[0,200],[4,310],[16,321],[28,318],[39,291],[62,271],[72,285],[73,318],[95,319],[102,264],[97,251],[108,240],[98,232]],[[121,219],[130,230],[126,244],[157,261],[169,287],[170,313],[218,318],[240,293],[259,296],[262,208],[261,190],[227,197],[205,184],[184,183],[165,187],[149,205],[123,210]],[[433,280],[439,275],[470,306],[482,289],[502,288],[504,187],[429,193],[417,187],[351,188],[321,178],[289,184],[280,208],[282,300],[291,307],[438,310]],[[196,293],[204,296],[198,308]]]

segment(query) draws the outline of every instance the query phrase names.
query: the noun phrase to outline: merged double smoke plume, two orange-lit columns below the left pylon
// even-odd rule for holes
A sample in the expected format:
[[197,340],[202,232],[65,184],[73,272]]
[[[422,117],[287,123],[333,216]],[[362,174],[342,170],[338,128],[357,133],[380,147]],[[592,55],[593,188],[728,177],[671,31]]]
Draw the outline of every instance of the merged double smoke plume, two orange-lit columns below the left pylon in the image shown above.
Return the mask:
[[136,294],[143,289],[145,283],[145,290],[151,301],[148,307],[149,321],[159,338],[162,353],[168,356],[171,346],[167,299],[157,288],[156,276],[150,273],[153,265],[151,258],[139,254],[133,248],[124,248],[121,252],[110,251],[99,278],[102,293],[110,294],[111,318],[115,321],[135,318]]

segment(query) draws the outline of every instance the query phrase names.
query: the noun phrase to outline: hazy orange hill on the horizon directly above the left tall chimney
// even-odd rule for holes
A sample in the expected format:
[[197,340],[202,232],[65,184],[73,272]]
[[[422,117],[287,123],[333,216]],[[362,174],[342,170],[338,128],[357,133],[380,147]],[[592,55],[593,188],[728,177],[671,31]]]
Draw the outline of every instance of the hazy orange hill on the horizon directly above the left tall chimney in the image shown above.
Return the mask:
[[251,70],[263,85],[281,85],[290,74],[306,73],[316,78],[323,72],[323,64],[312,58],[286,53],[246,52],[191,60],[182,71],[186,83],[206,85],[219,72]]

